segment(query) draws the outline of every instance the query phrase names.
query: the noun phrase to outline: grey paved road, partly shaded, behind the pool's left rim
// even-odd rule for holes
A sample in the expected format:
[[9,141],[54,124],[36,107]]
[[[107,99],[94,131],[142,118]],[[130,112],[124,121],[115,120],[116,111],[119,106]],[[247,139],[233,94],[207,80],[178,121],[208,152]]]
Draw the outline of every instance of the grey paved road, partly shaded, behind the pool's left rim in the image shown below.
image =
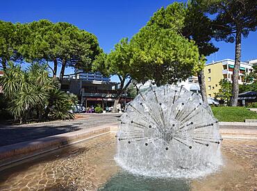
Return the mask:
[[56,121],[28,125],[0,125],[0,147],[15,143],[65,134],[83,128],[97,127],[117,122],[119,113],[85,114],[88,118],[77,120]]

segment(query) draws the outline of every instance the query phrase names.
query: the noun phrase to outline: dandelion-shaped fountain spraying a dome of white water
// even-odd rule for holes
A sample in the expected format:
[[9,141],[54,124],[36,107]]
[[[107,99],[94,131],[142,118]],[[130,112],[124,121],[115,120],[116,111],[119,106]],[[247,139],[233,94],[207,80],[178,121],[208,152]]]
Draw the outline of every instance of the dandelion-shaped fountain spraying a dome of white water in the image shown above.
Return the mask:
[[197,178],[222,165],[218,121],[183,87],[150,87],[128,103],[115,161],[133,174]]

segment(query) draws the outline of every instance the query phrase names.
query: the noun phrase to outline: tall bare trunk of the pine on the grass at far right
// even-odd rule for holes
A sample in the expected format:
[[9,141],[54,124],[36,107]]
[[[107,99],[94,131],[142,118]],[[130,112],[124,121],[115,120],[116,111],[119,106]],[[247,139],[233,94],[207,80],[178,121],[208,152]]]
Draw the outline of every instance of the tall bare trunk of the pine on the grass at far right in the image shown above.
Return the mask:
[[241,28],[237,28],[235,35],[235,66],[233,69],[233,79],[232,79],[232,98],[231,106],[238,106],[238,77],[239,77],[239,68],[241,60]]

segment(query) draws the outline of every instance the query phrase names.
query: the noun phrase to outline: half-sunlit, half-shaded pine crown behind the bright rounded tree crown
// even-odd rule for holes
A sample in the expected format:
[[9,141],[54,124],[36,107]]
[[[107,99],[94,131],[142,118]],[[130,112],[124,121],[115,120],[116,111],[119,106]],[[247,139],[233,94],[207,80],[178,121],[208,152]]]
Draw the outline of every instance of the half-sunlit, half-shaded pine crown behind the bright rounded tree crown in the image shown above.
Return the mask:
[[176,31],[183,37],[194,40],[200,55],[210,55],[218,50],[210,42],[214,34],[213,22],[204,14],[201,4],[196,0],[188,1],[186,6],[184,3],[174,2],[166,8],[160,8],[147,25]]

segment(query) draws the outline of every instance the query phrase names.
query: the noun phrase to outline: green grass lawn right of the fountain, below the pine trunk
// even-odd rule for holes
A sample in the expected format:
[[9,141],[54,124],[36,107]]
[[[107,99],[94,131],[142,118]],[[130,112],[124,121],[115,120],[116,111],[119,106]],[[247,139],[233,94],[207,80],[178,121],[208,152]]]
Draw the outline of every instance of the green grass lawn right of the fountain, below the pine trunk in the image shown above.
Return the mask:
[[244,122],[245,119],[257,119],[257,113],[245,107],[212,107],[211,109],[219,121]]

